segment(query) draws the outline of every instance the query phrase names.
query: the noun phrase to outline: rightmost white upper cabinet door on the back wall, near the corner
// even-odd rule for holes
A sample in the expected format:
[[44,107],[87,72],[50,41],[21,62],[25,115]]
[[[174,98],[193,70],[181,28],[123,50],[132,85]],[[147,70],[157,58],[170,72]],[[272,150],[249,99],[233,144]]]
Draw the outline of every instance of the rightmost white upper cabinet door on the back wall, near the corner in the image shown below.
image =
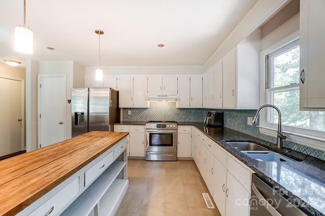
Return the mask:
[[190,107],[202,107],[202,76],[190,77]]

